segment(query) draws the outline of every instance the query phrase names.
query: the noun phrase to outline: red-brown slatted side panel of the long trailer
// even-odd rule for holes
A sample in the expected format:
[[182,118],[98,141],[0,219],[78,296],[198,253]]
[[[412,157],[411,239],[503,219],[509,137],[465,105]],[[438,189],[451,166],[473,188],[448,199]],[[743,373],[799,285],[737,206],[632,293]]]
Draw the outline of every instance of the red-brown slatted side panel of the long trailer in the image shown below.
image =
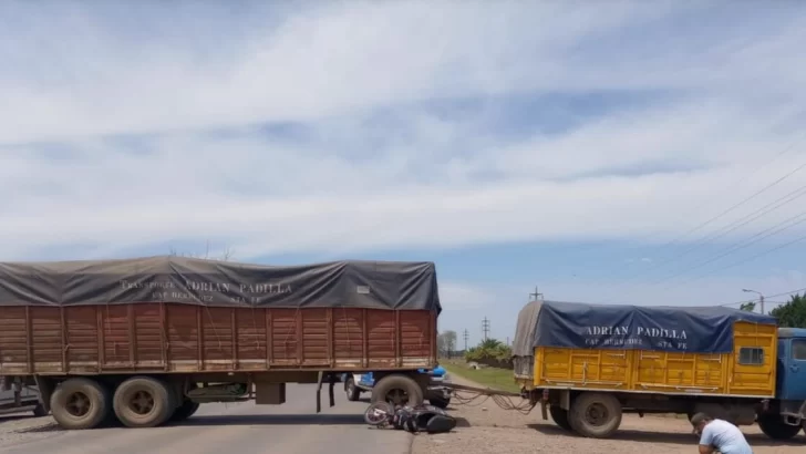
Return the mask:
[[435,310],[3,307],[0,374],[430,368],[435,327]]

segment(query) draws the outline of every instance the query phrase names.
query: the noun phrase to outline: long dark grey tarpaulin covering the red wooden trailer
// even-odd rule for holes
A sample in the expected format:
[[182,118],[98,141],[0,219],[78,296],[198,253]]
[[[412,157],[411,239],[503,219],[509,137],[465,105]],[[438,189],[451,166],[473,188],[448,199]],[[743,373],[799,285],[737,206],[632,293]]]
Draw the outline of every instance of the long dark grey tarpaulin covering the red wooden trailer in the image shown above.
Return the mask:
[[0,306],[179,302],[441,311],[433,262],[246,265],[186,257],[0,262]]

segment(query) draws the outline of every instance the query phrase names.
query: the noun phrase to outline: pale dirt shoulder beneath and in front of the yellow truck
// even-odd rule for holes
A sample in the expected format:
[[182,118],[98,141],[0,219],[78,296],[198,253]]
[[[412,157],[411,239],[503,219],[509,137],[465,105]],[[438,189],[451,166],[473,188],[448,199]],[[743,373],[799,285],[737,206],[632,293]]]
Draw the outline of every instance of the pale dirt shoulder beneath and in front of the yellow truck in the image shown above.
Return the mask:
[[[459,384],[478,386],[452,374]],[[517,403],[517,399],[514,399]],[[458,420],[458,427],[447,434],[418,434],[412,444],[413,454],[482,453],[695,453],[696,437],[685,420],[674,417],[624,415],[620,431],[610,440],[583,438],[565,432],[550,420],[542,421],[540,409],[528,415],[502,410],[492,400],[463,405],[452,402],[448,412]],[[741,427],[756,454],[804,453],[806,436],[790,443],[767,438],[757,427]]]

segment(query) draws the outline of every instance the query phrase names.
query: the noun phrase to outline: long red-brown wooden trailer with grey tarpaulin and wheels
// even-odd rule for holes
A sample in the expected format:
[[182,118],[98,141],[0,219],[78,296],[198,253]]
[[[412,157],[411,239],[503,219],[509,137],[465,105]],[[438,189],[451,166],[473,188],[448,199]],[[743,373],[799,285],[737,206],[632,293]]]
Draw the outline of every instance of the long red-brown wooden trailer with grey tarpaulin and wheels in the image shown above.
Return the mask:
[[418,404],[441,310],[433,262],[2,262],[0,378],[35,385],[40,412],[72,430],[282,404],[286,383],[317,383],[319,411],[352,372],[373,372],[373,402]]

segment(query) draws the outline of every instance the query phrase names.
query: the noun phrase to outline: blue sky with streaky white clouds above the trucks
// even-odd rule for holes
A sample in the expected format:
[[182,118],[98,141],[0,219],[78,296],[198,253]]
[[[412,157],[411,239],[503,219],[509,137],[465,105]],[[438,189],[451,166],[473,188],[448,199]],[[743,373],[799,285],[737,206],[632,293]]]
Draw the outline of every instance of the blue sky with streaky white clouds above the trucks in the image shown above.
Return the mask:
[[806,197],[733,226],[806,185],[804,12],[4,2],[0,257],[433,260],[471,342],[803,288]]

